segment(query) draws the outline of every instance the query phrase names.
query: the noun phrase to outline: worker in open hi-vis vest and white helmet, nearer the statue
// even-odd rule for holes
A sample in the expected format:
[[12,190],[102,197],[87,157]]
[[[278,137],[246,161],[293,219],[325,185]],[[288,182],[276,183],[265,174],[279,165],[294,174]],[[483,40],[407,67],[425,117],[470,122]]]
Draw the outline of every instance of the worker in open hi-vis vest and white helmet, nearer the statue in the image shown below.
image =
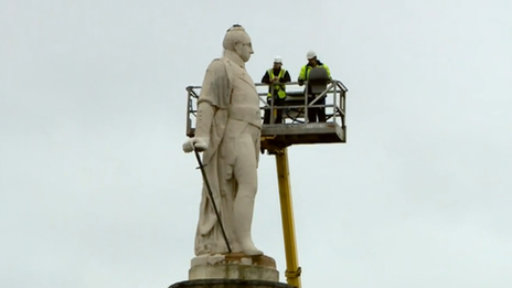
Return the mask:
[[[262,83],[268,84],[267,104],[270,106],[274,98],[274,107],[282,107],[286,98],[285,83],[291,82],[288,71],[282,68],[280,56],[274,58],[274,67],[263,75]],[[274,92],[274,93],[273,93]],[[274,94],[274,95],[273,95]],[[273,97],[274,96],[274,97]],[[265,109],[264,124],[270,124],[270,109]],[[274,109],[274,124],[282,124],[282,108]]]

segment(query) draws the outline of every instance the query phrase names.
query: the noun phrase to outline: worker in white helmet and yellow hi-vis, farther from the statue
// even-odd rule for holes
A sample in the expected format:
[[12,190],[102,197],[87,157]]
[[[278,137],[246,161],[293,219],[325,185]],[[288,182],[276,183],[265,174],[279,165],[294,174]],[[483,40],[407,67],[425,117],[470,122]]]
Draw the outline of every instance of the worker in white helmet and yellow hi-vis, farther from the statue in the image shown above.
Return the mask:
[[[309,78],[309,72],[314,68],[314,67],[323,67],[327,71],[327,76],[329,77],[329,81],[332,81],[331,77],[331,72],[329,71],[329,67],[323,64],[320,60],[317,58],[317,53],[312,50],[308,51],[308,54],[306,55],[308,58],[308,64],[302,66],[300,70],[299,74],[299,85],[302,86],[305,81],[308,81]],[[311,87],[308,86],[308,103],[312,102],[317,95],[312,95],[311,93]],[[320,98],[318,102],[316,102],[313,105],[326,105],[326,96]],[[326,107],[311,107],[308,110],[308,118],[310,122],[316,122],[318,117],[319,122],[324,122],[326,121]]]

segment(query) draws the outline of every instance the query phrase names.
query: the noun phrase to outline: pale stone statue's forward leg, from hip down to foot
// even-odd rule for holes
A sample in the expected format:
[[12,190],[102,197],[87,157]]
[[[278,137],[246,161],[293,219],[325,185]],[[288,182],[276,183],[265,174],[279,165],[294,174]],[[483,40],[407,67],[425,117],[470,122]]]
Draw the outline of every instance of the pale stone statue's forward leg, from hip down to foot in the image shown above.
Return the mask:
[[[255,156],[255,137],[259,129],[247,125],[238,138],[234,175],[238,183],[238,191],[234,205],[234,223],[242,250],[246,255],[262,255],[255,247],[250,235],[253,223],[254,200],[258,189],[257,159]],[[259,138],[258,138],[259,140]],[[257,153],[256,153],[257,154]]]

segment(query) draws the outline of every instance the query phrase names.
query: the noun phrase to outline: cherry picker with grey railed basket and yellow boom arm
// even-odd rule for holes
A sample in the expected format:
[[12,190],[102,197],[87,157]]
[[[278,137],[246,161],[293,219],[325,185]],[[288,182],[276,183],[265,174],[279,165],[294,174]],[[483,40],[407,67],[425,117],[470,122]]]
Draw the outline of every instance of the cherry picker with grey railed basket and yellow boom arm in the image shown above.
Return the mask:
[[[311,72],[313,73],[313,72]],[[313,75],[313,74],[310,74]],[[311,77],[313,78],[313,77]],[[345,98],[348,88],[335,79],[311,79],[299,86],[299,83],[287,83],[285,104],[280,106],[267,103],[268,85],[256,84],[260,99],[260,110],[270,109],[270,124],[263,125],[262,148],[276,157],[279,200],[281,207],[282,235],[286,254],[285,276],[290,286],[300,288],[301,268],[298,264],[295,236],[294,210],[289,178],[287,148],[292,145],[345,143]],[[263,89],[263,88],[265,89]],[[189,86],[186,108],[186,136],[194,136],[195,115],[201,86]],[[273,90],[271,90],[273,92]],[[308,93],[306,93],[308,92]],[[307,94],[317,95],[313,100]],[[324,97],[324,104],[317,104]],[[309,121],[311,108],[326,109],[324,122]],[[275,124],[275,111],[282,109],[282,122]],[[263,118],[263,117],[262,117]]]

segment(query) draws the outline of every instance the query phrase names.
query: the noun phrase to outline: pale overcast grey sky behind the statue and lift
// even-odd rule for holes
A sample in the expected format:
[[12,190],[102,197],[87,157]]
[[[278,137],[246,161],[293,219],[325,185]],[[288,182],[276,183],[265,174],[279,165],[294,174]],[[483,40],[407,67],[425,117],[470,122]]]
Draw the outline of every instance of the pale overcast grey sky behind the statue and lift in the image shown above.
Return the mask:
[[[201,174],[185,90],[233,23],[259,82],[313,49],[346,145],[289,149],[303,287],[512,286],[510,1],[0,0],[0,286],[167,287]],[[274,158],[256,245],[285,252]]]

